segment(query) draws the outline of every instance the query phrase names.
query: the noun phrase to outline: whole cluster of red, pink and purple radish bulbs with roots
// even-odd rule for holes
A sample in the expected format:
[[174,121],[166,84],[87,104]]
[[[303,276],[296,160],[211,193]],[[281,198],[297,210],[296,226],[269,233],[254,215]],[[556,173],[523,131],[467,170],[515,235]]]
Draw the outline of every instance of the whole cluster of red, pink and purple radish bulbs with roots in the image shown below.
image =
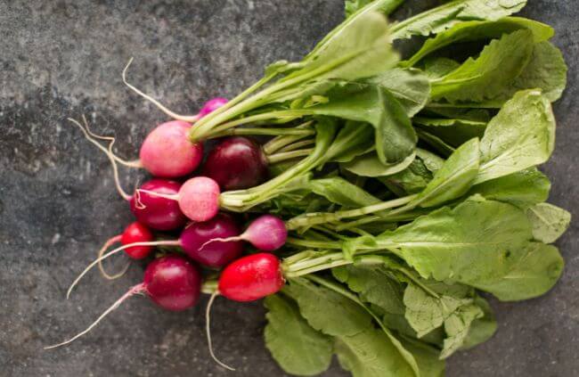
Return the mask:
[[[224,98],[208,101],[198,114],[199,118],[224,105]],[[146,267],[143,283],[130,288],[86,331],[70,340],[51,346],[58,347],[76,340],[125,299],[142,293],[167,310],[184,310],[194,306],[203,285],[201,266],[222,269],[217,284],[207,283],[205,291],[223,295],[236,301],[261,299],[281,289],[284,283],[280,260],[269,252],[258,252],[241,257],[244,244],[251,243],[257,250],[273,251],[281,248],[287,238],[283,221],[272,215],[262,215],[249,223],[245,231],[238,219],[219,211],[221,190],[241,190],[264,182],[268,176],[267,161],[261,146],[242,137],[224,138],[208,153],[202,167],[203,144],[191,143],[187,133],[192,126],[184,120],[172,120],[155,127],[145,138],[140,160],[126,161],[112,153],[97,139],[112,138],[91,133],[86,123],[75,124],[86,137],[105,151],[112,162],[117,188],[129,201],[136,221],[126,226],[122,234],[104,243],[99,257],[86,267],[69,287],[67,297],[78,281],[93,266],[101,268],[102,260],[125,251],[128,258],[143,259],[156,246],[177,246],[182,252],[168,253],[155,258]],[[135,193],[126,193],[118,184],[117,163],[145,168],[152,176]],[[200,174],[194,172],[200,170]],[[184,182],[183,182],[184,180]],[[183,182],[183,183],[182,183]],[[181,231],[177,240],[156,240],[156,232]],[[114,243],[122,246],[106,252]],[[106,252],[106,253],[105,253]]]

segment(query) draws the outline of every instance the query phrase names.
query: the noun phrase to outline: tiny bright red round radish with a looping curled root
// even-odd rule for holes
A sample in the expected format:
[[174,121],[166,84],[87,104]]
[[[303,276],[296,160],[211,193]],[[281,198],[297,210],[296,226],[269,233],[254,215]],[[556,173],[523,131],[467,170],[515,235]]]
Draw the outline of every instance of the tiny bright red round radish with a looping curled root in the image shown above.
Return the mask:
[[[113,244],[120,242],[123,245],[127,245],[129,243],[135,242],[151,242],[153,240],[153,234],[149,228],[145,225],[135,221],[134,223],[126,226],[125,231],[122,234],[118,234],[114,237],[111,237],[107,242],[104,242],[102,245],[102,249],[98,252],[98,258],[102,258],[104,252],[110,248]],[[147,257],[151,253],[152,247],[151,246],[135,246],[132,248],[125,249],[126,255],[132,259],[143,259]],[[106,279],[114,280],[118,277],[125,275],[126,269],[128,268],[129,264],[123,268],[121,272],[115,275],[109,275],[102,266],[102,261],[99,261],[99,269],[101,270],[102,276]]]

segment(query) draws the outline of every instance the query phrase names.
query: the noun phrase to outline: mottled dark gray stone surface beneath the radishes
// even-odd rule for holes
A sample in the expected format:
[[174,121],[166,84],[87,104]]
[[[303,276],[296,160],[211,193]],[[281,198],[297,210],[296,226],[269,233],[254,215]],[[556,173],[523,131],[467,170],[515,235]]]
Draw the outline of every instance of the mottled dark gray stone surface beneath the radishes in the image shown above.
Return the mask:
[[[409,1],[402,12],[427,2]],[[434,1],[429,1],[434,3]],[[550,201],[579,217],[579,11],[575,0],[530,1],[524,14],[558,32],[571,69],[555,108],[558,147],[544,167]],[[45,351],[84,328],[131,284],[143,266],[115,282],[88,275],[66,301],[66,287],[94,250],[131,216],[118,199],[109,163],[64,120],[86,114],[135,156],[165,117],[129,93],[120,71],[130,56],[133,82],[171,108],[232,96],[265,64],[297,60],[342,17],[341,0],[0,1],[0,375],[233,375],[208,357],[202,307],[166,313],[134,298],[68,348]],[[126,174],[124,184],[139,176]],[[577,223],[560,240],[567,269],[545,297],[493,302],[499,332],[453,357],[450,376],[576,376],[579,359]],[[218,299],[218,354],[239,376],[283,375],[264,348],[260,303]],[[334,365],[327,376],[346,375]]]

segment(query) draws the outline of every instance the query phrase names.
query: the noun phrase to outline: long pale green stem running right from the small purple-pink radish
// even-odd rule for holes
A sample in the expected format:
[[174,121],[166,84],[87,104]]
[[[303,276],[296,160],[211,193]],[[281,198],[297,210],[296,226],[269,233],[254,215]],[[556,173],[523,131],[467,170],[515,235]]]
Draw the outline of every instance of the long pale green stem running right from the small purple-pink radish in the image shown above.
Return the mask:
[[[371,206],[362,207],[359,209],[350,209],[350,210],[342,210],[337,212],[313,212],[313,213],[306,213],[304,215],[299,215],[298,217],[291,218],[288,222],[286,222],[286,227],[289,230],[295,230],[305,226],[312,226],[318,225],[323,223],[329,222],[336,222],[342,218],[347,217],[359,217],[363,215],[368,215],[370,213],[379,212],[386,209],[393,209],[396,207],[404,206],[404,204],[408,204],[414,198],[416,198],[416,194],[404,196],[402,198],[394,199],[392,201],[383,201],[378,204],[373,204]],[[408,207],[410,209],[410,207]],[[394,213],[395,211],[393,211]],[[396,211],[398,212],[398,211]]]

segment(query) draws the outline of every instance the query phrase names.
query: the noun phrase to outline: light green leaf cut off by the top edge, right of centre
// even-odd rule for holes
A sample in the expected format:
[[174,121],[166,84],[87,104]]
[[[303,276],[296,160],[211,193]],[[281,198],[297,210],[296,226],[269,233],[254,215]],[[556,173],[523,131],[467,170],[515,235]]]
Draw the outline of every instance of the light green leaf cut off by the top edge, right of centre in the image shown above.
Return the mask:
[[393,39],[428,36],[465,20],[499,20],[520,11],[526,0],[456,0],[399,22]]

